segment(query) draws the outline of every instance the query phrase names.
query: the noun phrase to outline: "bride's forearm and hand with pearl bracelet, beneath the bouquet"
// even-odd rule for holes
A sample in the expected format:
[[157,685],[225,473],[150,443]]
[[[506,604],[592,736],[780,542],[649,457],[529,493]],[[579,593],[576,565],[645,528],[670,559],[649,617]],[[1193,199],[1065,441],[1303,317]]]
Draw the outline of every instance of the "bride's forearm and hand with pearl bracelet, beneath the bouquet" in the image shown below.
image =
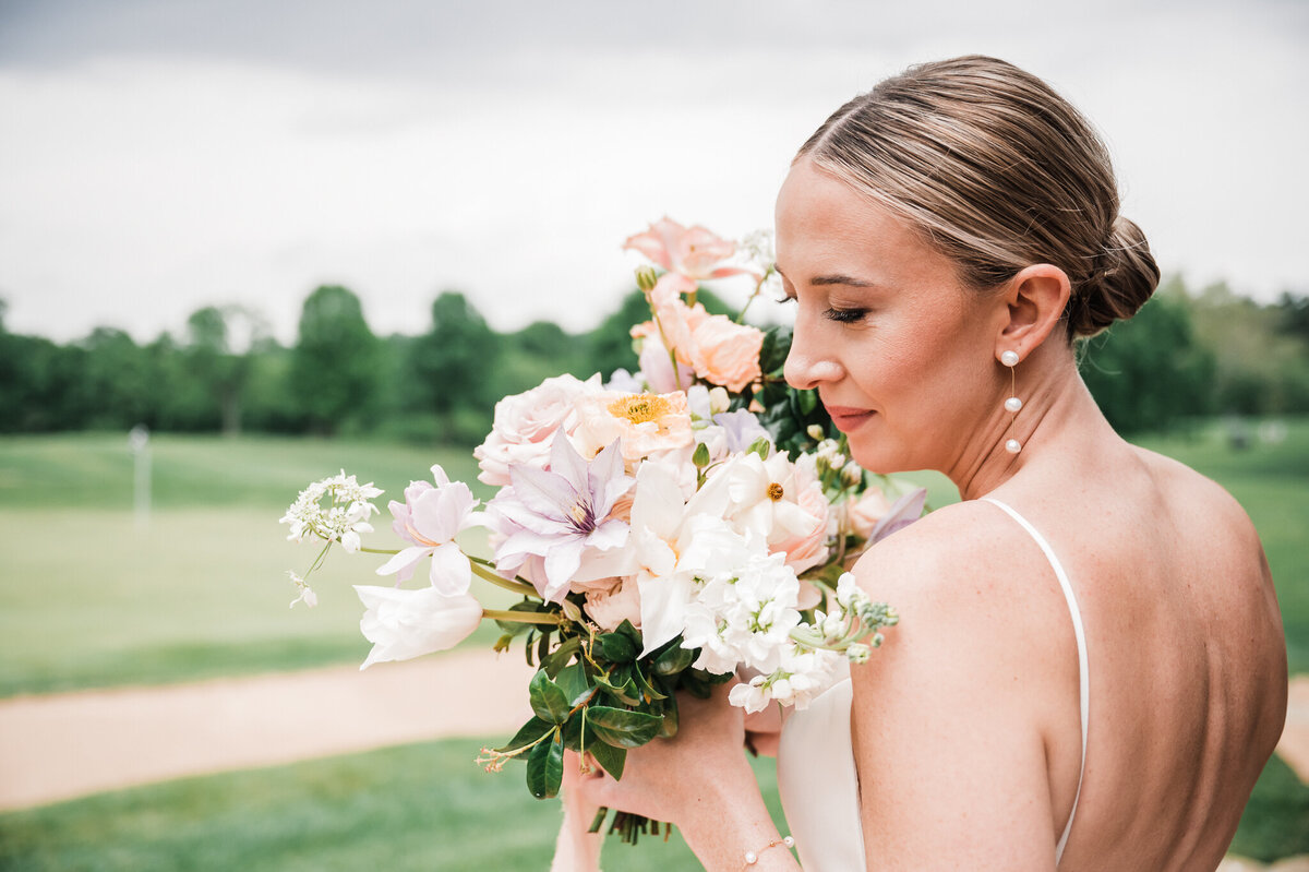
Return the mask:
[[754,872],[798,869],[779,839],[745,758],[741,710],[728,704],[728,687],[708,700],[679,697],[681,729],[627,754],[622,780],[600,767],[579,779],[579,800],[675,824],[708,872],[741,872],[746,851],[759,852]]

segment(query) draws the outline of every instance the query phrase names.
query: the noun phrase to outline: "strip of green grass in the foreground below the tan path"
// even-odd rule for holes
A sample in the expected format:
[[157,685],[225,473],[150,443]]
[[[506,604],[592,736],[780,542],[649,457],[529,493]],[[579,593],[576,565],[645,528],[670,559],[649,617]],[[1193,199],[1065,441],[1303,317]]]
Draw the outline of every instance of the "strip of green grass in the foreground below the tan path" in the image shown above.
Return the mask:
[[[559,804],[522,767],[483,772],[479,744],[449,740],[183,779],[0,814],[0,869],[25,872],[539,872]],[[755,766],[780,820],[776,769]],[[679,837],[610,839],[606,869],[700,868]]]

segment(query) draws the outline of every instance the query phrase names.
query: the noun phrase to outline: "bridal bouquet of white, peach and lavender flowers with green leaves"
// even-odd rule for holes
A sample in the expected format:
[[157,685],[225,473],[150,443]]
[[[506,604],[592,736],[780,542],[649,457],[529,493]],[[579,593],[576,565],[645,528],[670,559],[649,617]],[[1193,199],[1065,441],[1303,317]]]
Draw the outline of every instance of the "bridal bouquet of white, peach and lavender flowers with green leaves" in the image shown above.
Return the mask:
[[[695,301],[700,282],[733,275],[753,279],[753,301],[774,275],[766,242],[741,258],[664,219],[626,247],[661,267],[637,271],[652,314],[632,327],[639,371],[546,378],[496,403],[474,452],[496,488],[484,507],[433,466],[389,504],[404,547],[369,549],[381,491],[342,471],[281,518],[291,539],[323,542],[310,572],[334,543],[391,555],[377,573],[394,587],[355,587],[373,643],[364,668],[450,648],[483,619],[503,630],[497,651],[525,642],[534,716],[479,762],[525,759],[537,797],[559,791],[564,749],[622,778],[630,749],[677,733],[678,691],[706,697],[740,676],[729,698],[746,711],[806,706],[897,622],[846,568],[923,512],[922,490],[860,469],[814,394],[785,385],[788,329]],[[458,545],[470,528],[487,530],[491,559]],[[420,568],[427,583],[411,587]],[[314,605],[291,576],[296,602]],[[484,608],[474,577],[521,600]],[[627,841],[649,826],[613,824]]]

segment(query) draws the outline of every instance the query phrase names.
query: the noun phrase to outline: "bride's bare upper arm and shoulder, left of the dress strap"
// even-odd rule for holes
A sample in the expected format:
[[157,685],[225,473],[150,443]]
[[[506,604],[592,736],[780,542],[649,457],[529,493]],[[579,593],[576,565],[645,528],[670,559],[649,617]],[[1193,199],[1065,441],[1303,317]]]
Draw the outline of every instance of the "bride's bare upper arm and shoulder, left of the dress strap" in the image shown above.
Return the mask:
[[852,670],[869,868],[1046,872],[1055,839],[1042,724],[1076,677],[1051,653],[1062,648],[1045,580],[1012,555],[988,556],[994,538],[920,524],[855,571],[902,618]]

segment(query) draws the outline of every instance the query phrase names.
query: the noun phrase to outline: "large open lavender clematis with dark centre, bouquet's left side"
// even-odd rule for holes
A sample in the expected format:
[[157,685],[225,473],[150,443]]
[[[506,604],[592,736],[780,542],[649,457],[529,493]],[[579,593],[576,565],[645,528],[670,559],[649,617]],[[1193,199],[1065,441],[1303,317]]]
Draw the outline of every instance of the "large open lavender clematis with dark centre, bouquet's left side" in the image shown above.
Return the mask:
[[609,517],[634,484],[619,441],[586,462],[567,436],[556,435],[548,470],[513,466],[509,477],[512,486],[487,504],[504,536],[496,568],[513,573],[524,563],[538,563],[542,571],[531,583],[543,598],[559,602],[584,560],[627,542],[627,524]]

